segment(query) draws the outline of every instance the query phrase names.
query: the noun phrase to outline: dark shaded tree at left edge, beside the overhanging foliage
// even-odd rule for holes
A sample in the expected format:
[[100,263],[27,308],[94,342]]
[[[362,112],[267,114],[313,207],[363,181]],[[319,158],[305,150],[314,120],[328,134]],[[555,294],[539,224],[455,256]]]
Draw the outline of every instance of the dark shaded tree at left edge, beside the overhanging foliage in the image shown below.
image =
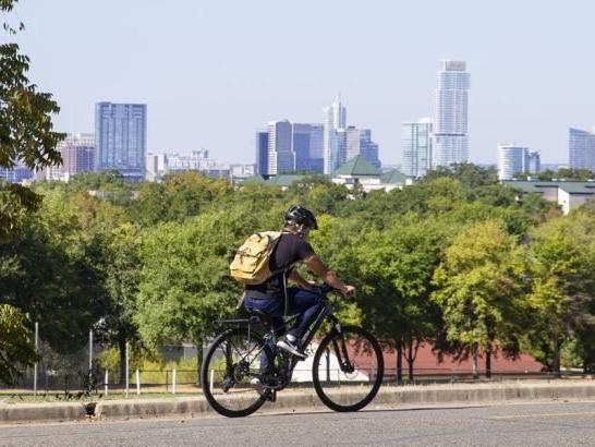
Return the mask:
[[44,339],[59,352],[80,349],[99,318],[93,250],[58,191],[45,194],[41,208],[0,243],[0,302],[38,321]]

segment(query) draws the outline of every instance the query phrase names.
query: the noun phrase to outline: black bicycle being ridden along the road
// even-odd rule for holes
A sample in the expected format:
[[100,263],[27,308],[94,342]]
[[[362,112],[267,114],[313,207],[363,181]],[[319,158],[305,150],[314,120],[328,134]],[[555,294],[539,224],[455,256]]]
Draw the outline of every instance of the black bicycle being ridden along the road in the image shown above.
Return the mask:
[[[333,315],[335,305],[327,298],[335,289],[326,285],[317,289],[324,299],[324,307],[300,345],[307,349],[323,323],[330,324],[329,334],[315,350],[312,363],[314,389],[331,410],[361,410],[374,399],[382,383],[382,350],[367,330],[341,325]],[[247,318],[220,322],[234,327],[215,338],[201,366],[203,391],[218,413],[228,418],[252,414],[266,401],[275,402],[277,391],[290,385],[300,359],[278,349],[276,339],[295,318],[296,315],[284,318],[283,326],[275,328],[269,327],[265,314],[255,311]],[[255,330],[257,328],[264,328],[264,334]],[[272,369],[262,374],[263,355],[271,362]],[[259,382],[257,387],[252,384],[254,378]]]

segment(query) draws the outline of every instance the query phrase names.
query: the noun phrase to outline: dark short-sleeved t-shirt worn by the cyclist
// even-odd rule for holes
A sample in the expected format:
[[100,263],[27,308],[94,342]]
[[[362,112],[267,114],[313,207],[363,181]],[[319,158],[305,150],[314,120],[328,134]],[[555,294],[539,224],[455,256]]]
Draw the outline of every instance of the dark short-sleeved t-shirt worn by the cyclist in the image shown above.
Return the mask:
[[307,259],[314,254],[309,243],[296,234],[283,233],[269,258],[270,271],[281,270],[265,282],[246,286],[246,297],[281,298],[283,297],[283,273],[289,276],[292,265]]

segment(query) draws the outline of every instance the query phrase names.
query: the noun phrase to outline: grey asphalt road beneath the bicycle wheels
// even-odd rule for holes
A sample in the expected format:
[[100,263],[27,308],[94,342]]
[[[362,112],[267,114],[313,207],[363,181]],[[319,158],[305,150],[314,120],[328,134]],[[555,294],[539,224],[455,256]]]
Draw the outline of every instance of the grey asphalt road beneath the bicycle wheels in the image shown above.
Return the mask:
[[1,446],[595,446],[595,402],[0,425]]

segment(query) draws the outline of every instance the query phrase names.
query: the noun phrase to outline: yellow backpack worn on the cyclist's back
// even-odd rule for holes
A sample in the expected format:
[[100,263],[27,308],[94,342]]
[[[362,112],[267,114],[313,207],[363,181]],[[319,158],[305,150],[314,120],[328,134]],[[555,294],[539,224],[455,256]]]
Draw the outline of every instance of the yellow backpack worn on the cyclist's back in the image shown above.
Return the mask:
[[259,285],[270,278],[275,273],[268,262],[281,234],[282,231],[263,231],[246,239],[229,266],[231,276],[243,285]]

